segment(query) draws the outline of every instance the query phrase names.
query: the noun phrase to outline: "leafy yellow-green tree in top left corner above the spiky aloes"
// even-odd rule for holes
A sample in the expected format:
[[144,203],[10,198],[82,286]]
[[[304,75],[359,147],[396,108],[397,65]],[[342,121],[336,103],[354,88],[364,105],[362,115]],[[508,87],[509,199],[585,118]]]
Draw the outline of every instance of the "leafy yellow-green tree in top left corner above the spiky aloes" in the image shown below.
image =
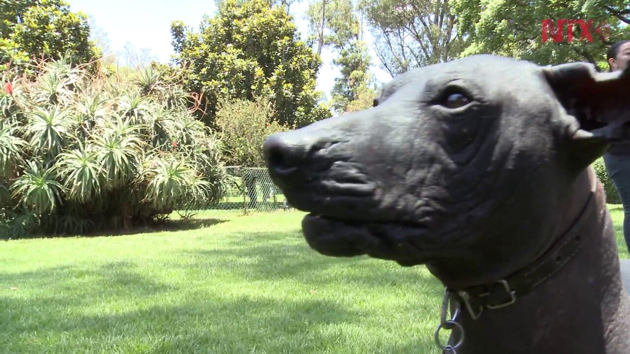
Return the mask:
[[100,53],[89,40],[88,18],[72,13],[63,0],[0,1],[0,71],[6,63],[18,71],[33,59],[61,59],[76,64]]

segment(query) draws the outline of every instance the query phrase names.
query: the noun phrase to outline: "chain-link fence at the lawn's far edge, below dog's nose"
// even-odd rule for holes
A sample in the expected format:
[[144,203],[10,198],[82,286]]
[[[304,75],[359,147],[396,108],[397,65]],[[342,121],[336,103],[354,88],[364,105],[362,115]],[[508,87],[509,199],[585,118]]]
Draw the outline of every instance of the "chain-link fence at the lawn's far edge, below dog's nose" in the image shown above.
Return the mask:
[[290,206],[276,186],[266,168],[226,167],[227,193],[221,202],[210,210],[234,210],[249,212],[273,212],[289,210]]

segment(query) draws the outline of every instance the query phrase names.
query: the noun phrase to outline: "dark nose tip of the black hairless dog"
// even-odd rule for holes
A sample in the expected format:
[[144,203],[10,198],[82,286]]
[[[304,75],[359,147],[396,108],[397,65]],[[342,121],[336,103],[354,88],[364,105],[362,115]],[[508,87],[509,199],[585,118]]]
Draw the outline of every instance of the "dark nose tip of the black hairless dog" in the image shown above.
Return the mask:
[[280,178],[297,173],[307,157],[307,147],[289,135],[290,133],[270,135],[263,144],[267,167]]

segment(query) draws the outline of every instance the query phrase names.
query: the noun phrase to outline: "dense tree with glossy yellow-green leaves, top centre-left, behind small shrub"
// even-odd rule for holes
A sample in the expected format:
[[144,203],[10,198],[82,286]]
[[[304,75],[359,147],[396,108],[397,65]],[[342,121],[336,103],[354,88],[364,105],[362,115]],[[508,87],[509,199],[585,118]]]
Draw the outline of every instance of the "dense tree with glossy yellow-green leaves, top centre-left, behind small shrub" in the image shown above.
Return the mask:
[[321,60],[299,39],[283,8],[264,0],[226,0],[214,18],[204,18],[199,33],[181,22],[173,22],[171,33],[184,88],[202,95],[198,105],[209,125],[224,98],[264,96],[278,122],[298,127],[330,117],[316,91]]

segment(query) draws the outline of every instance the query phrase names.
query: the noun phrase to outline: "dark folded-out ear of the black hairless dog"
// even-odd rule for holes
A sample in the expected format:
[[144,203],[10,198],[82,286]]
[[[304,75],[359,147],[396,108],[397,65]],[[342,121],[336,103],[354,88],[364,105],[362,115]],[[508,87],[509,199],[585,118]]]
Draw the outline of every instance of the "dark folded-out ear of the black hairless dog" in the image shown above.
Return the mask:
[[[544,77],[569,116],[568,162],[579,171],[614,142],[630,143],[630,67],[597,72],[584,62],[546,66]],[[571,118],[566,117],[566,118]]]

